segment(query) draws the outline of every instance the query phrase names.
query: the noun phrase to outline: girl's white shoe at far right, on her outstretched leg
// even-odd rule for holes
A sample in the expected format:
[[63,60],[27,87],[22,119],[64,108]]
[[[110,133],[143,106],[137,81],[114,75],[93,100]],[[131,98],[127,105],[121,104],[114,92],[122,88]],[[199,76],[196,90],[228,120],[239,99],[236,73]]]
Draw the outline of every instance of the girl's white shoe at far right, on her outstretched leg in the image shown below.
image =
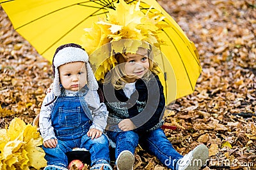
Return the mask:
[[177,162],[177,170],[198,170],[209,159],[209,150],[205,145],[198,145]]

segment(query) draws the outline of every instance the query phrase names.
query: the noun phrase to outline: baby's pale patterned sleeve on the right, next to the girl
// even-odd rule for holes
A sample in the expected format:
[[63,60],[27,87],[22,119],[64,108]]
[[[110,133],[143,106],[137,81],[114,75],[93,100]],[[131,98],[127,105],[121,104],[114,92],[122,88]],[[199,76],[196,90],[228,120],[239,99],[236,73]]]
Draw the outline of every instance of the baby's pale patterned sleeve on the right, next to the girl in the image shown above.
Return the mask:
[[108,110],[104,103],[100,103],[97,90],[89,90],[85,97],[86,103],[92,112],[93,124],[90,129],[95,128],[104,131],[107,125]]

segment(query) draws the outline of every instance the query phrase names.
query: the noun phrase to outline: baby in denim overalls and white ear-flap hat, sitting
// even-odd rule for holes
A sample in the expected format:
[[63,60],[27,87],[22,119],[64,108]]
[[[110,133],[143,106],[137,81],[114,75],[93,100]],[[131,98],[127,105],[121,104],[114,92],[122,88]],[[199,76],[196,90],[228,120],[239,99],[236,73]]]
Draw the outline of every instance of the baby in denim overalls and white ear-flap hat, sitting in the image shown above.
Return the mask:
[[98,84],[88,61],[88,54],[73,43],[57,48],[52,59],[53,89],[44,99],[39,127],[47,167],[67,169],[65,153],[86,148],[91,153],[91,170],[111,170],[109,141],[102,134],[108,111],[100,103]]

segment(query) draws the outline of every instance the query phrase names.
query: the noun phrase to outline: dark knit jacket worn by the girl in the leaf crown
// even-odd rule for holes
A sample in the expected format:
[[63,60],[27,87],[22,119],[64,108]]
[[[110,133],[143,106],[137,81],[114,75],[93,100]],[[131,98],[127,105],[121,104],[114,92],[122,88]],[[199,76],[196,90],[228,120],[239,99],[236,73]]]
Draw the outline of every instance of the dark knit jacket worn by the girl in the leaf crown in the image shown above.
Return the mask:
[[130,99],[123,89],[115,90],[110,83],[99,83],[99,87],[109,111],[107,127],[115,126],[125,118],[131,118],[137,127],[134,129],[136,132],[152,131],[163,125],[165,99],[163,85],[157,75],[152,74],[149,80],[137,80],[136,91]]

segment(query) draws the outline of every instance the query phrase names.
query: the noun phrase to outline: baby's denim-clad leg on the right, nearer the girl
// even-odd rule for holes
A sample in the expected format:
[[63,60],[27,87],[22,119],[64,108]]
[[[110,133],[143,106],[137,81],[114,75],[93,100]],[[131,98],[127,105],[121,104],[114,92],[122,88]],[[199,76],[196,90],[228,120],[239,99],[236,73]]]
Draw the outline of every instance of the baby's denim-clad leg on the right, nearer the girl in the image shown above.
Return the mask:
[[109,163],[109,142],[105,134],[102,134],[99,138],[91,139],[85,134],[81,139],[81,148],[86,148],[91,153],[91,160],[93,166],[97,162]]

